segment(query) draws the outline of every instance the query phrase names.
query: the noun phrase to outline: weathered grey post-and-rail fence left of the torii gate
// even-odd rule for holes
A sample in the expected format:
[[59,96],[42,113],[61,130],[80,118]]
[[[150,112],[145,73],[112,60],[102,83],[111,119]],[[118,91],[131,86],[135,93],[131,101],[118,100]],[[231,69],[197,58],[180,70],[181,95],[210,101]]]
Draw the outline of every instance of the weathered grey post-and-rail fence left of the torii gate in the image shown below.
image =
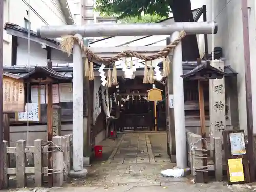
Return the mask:
[[[43,144],[41,139],[34,140],[34,146],[26,146],[25,140],[16,141],[15,147],[9,147],[3,141],[4,188],[9,187],[9,176],[16,175],[17,187],[26,187],[27,174],[34,174],[35,187],[41,187],[43,177],[53,174],[55,186],[62,186],[70,171],[71,135],[55,136],[52,142]],[[16,155],[16,167],[9,168],[9,154]],[[26,167],[26,153],[33,153],[34,166]],[[52,153],[53,169],[48,169],[48,153]]]

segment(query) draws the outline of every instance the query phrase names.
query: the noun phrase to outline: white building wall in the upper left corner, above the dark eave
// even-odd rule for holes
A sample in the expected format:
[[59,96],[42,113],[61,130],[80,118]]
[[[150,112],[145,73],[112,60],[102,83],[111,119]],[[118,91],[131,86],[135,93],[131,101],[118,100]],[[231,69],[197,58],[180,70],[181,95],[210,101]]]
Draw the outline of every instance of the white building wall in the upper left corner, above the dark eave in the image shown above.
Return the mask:
[[[31,30],[34,31],[42,25],[65,24],[65,17],[58,0],[4,0],[4,23],[11,22],[25,27],[24,18],[30,20]],[[7,35],[6,31],[4,31],[4,65],[11,65],[11,36]]]

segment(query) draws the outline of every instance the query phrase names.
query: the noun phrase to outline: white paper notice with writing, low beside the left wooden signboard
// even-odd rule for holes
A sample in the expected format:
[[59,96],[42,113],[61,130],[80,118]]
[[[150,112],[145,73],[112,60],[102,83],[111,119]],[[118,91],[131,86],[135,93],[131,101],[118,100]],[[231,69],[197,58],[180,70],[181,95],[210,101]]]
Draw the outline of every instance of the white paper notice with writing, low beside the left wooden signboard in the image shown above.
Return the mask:
[[25,112],[18,113],[19,121],[39,121],[38,103],[27,103]]

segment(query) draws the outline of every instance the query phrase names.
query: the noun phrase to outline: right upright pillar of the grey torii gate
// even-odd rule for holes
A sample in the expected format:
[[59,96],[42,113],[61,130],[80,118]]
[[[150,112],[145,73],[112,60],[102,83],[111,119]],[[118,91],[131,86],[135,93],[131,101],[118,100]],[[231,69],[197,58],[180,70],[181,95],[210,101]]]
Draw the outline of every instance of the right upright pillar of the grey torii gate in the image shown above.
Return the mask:
[[[171,41],[179,37],[179,32],[172,34]],[[181,43],[176,46],[173,54],[173,92],[174,92],[174,123],[175,123],[175,143],[176,143],[176,162],[178,168],[187,167],[187,147],[186,147],[186,128],[184,111],[184,90],[182,69],[182,49]]]

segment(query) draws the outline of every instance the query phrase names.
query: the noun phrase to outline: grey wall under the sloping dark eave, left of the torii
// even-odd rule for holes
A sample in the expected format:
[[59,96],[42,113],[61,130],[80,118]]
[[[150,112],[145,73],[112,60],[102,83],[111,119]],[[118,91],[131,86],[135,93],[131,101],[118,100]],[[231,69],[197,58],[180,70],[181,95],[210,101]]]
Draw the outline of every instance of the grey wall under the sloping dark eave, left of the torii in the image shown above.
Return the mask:
[[[17,47],[17,65],[27,65],[28,63],[28,41],[27,39],[18,38]],[[57,63],[73,63],[73,56],[67,56],[66,53],[52,49],[51,61],[54,64]],[[47,63],[47,51],[41,48],[41,44],[37,42],[30,42],[30,65],[46,66]]]

